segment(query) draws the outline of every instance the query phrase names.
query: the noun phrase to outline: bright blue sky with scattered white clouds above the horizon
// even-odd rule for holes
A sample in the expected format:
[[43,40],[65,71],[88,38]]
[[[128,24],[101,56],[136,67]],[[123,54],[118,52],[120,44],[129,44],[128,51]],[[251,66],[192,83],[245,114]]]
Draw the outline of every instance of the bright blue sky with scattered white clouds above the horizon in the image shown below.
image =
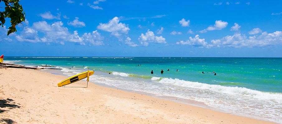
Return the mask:
[[282,57],[280,0],[20,3],[26,22],[0,27],[5,56]]

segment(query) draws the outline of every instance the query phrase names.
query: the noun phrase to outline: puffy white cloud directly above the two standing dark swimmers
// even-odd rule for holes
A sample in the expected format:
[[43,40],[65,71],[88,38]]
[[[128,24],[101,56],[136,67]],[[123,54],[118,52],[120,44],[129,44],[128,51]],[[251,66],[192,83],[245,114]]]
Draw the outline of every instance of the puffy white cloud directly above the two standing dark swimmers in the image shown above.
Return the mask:
[[165,38],[163,38],[162,36],[160,37],[155,36],[154,32],[150,31],[150,29],[147,30],[145,35],[141,33],[138,40],[140,41],[141,45],[143,46],[148,46],[149,45],[148,42],[166,43]]

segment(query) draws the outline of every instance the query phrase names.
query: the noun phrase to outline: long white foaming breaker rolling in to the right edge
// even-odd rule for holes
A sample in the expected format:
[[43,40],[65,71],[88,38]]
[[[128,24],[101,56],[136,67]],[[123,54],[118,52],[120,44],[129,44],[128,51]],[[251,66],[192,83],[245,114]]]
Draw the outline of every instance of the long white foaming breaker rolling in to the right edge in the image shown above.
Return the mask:
[[227,94],[232,94],[232,95],[251,96],[259,100],[274,100],[277,102],[282,102],[281,93],[261,92],[261,91],[251,90],[245,87],[237,87],[237,86],[229,87],[229,86],[220,86],[220,85],[210,85],[210,84],[205,84],[205,83],[200,83],[200,82],[190,82],[190,81],[179,80],[177,78],[176,79],[163,78],[159,82],[172,84],[176,86],[211,90],[211,91],[215,91],[219,93],[227,93]]

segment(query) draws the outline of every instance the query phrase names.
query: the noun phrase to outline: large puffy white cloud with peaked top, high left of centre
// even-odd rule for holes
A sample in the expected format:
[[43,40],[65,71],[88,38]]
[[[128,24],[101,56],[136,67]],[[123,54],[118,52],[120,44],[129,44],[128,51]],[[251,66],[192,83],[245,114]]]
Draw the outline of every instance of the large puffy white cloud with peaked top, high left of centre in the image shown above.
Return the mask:
[[119,19],[117,17],[114,17],[108,23],[100,23],[97,28],[103,31],[111,32],[112,35],[117,37],[120,36],[121,33],[127,34],[130,30],[128,28],[128,25],[119,22]]

